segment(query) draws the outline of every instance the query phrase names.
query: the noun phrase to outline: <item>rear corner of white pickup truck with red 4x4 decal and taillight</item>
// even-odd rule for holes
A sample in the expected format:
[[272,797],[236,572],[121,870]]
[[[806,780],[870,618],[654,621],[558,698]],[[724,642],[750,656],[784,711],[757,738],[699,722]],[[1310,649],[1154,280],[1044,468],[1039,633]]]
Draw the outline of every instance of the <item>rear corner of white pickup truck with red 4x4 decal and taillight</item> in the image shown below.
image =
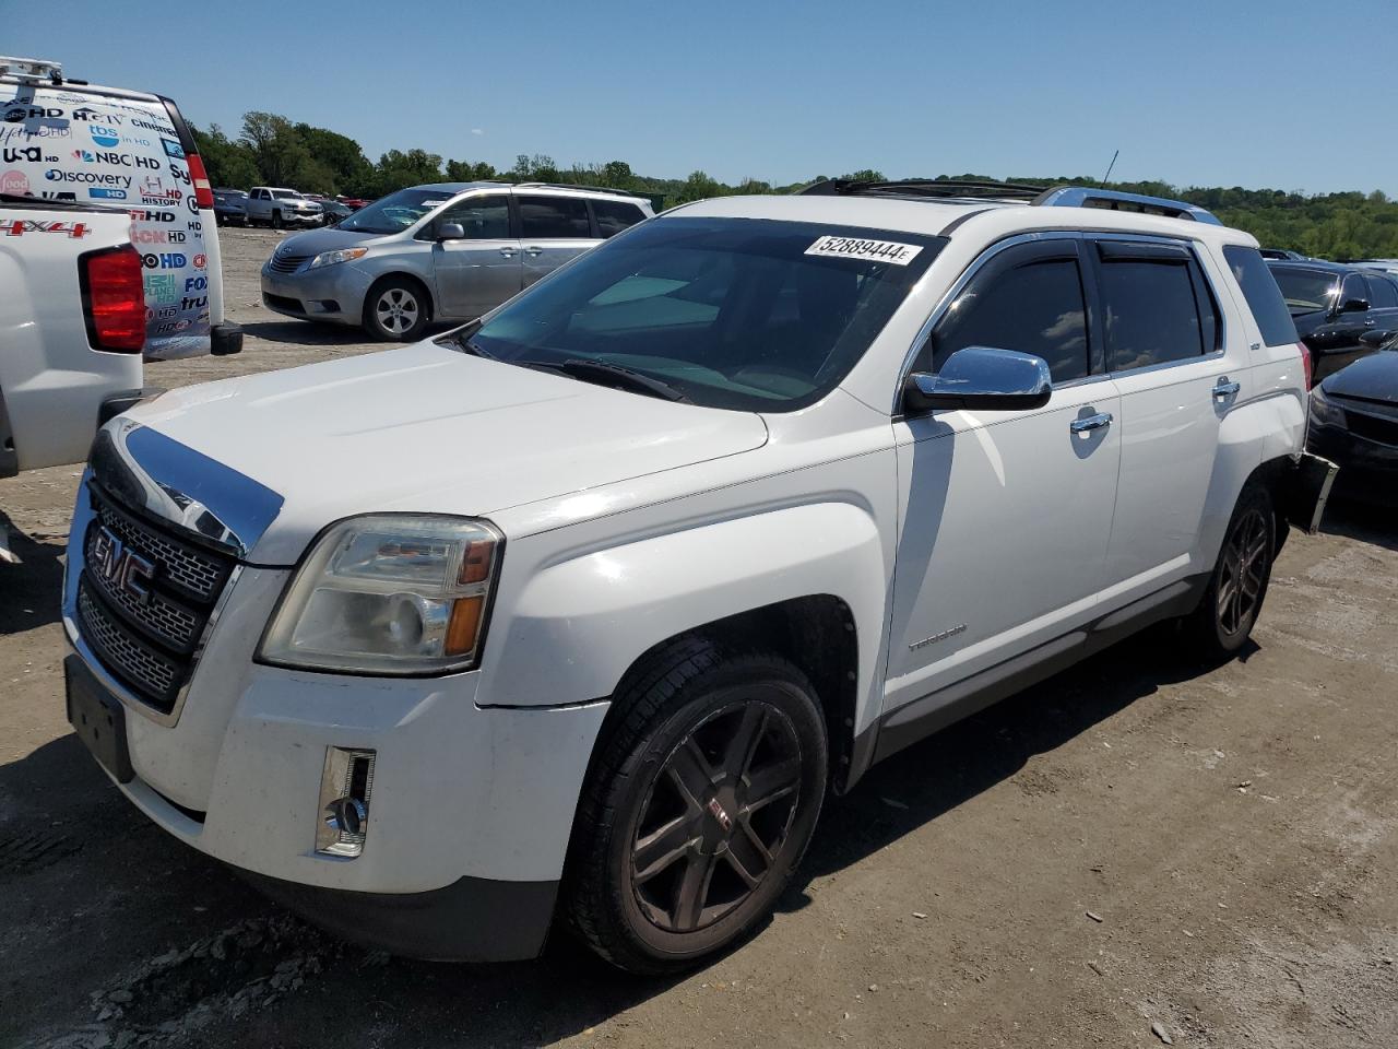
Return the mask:
[[[81,462],[141,385],[145,292],[124,210],[0,193],[0,477]],[[0,561],[14,559],[0,518]]]

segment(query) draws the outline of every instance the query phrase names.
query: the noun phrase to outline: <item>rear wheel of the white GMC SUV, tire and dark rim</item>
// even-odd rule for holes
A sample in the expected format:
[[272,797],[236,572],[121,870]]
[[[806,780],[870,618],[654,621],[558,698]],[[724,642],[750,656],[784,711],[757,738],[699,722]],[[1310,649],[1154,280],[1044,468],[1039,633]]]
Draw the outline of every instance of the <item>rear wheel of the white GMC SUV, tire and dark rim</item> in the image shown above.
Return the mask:
[[1201,659],[1232,659],[1247,643],[1267,597],[1276,547],[1272,499],[1250,483],[1233,508],[1204,600],[1186,621]]

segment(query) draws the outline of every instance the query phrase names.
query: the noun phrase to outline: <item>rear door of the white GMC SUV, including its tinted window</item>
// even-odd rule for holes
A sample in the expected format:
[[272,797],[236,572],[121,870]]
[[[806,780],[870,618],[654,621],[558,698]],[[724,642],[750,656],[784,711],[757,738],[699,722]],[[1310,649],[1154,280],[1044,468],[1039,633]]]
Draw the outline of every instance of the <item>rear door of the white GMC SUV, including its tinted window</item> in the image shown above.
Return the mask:
[[1121,393],[1107,583],[1125,604],[1212,568],[1199,536],[1223,420],[1251,394],[1248,350],[1241,330],[1225,330],[1206,256],[1190,242],[1100,235],[1089,246]]

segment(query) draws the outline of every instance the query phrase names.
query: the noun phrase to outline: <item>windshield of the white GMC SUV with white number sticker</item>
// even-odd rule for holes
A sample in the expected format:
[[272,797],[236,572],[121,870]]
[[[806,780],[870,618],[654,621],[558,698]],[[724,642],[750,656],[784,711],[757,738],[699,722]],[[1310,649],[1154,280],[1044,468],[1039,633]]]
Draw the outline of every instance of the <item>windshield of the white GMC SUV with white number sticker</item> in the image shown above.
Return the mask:
[[811,222],[651,220],[460,340],[629,390],[649,380],[707,407],[793,411],[844,378],[945,243]]

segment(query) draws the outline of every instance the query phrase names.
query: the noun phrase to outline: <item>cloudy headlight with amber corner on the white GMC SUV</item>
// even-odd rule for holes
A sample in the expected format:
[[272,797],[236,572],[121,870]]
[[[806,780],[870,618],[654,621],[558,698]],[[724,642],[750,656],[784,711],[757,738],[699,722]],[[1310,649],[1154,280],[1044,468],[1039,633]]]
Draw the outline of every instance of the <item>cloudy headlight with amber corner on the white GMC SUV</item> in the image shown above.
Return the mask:
[[282,594],[259,659],[341,673],[470,670],[503,543],[463,518],[370,513],[333,524]]

